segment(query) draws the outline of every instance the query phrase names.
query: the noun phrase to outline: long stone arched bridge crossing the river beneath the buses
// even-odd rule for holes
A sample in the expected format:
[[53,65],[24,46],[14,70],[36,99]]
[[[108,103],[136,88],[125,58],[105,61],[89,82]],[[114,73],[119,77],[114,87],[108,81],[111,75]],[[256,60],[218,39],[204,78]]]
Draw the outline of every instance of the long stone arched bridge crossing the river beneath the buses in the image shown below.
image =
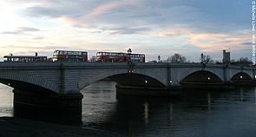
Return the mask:
[[[175,89],[254,84],[248,67],[200,63],[0,62],[0,82],[14,88],[14,107],[74,108],[81,112],[80,91],[109,78],[126,88]],[[159,93],[161,94],[161,93]]]

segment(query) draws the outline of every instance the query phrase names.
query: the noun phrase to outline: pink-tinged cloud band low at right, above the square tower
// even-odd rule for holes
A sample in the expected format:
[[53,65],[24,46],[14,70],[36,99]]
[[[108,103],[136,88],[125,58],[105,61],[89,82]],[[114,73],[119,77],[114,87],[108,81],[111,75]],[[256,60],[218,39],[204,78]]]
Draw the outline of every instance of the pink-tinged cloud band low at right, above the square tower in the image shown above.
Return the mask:
[[194,45],[204,52],[218,52],[222,49],[249,49],[245,45],[251,45],[250,32],[248,31],[234,31],[234,32],[222,32],[222,33],[202,33],[189,28],[175,28],[167,29],[159,33],[161,37],[169,37],[178,39],[182,37],[181,41],[185,44]]

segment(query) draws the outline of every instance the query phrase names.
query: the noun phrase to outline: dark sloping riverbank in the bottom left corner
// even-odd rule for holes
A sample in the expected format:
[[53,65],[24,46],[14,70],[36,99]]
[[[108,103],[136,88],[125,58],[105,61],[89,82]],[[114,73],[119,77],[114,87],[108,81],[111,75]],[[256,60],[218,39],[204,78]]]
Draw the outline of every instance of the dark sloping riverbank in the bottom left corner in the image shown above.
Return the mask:
[[65,126],[22,118],[0,117],[1,137],[114,137],[117,134],[84,127]]

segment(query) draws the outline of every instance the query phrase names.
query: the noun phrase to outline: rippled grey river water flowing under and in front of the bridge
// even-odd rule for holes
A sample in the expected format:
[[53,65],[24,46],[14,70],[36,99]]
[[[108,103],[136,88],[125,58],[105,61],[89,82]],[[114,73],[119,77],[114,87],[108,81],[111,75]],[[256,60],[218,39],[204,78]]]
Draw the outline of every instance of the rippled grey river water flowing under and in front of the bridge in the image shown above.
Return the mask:
[[[12,88],[0,85],[0,116],[13,116]],[[115,82],[82,90],[82,124],[121,136],[255,136],[256,89],[184,91],[179,98],[116,98]]]

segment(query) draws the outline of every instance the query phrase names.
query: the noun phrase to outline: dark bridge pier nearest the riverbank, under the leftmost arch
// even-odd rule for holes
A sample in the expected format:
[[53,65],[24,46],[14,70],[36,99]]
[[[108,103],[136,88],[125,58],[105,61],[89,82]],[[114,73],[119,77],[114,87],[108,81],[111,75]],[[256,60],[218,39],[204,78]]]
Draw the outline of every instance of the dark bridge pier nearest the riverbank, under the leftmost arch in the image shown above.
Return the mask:
[[78,123],[82,121],[82,94],[56,95],[13,89],[14,115],[29,119]]

